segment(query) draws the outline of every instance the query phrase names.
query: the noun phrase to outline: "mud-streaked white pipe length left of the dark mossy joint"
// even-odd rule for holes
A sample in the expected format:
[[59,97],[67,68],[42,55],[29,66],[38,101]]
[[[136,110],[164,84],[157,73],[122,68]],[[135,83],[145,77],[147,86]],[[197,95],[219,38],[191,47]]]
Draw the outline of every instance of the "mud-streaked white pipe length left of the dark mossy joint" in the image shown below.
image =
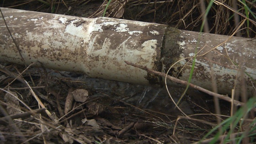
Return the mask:
[[[124,60],[157,69],[165,25],[2,8],[28,65],[76,71],[90,77],[149,84],[157,76]],[[23,64],[1,19],[0,61]],[[38,64],[37,66],[40,66]]]

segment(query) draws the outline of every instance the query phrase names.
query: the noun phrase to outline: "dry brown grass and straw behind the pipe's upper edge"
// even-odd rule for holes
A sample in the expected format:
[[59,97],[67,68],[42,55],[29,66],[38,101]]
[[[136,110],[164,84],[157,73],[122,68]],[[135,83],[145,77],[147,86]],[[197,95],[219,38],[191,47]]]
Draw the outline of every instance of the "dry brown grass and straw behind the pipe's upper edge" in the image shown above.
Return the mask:
[[[24,0],[24,1],[4,1],[4,7],[15,8],[37,4],[33,7],[34,11],[38,11],[43,7],[48,7],[53,13],[58,13],[65,7],[69,6],[86,7],[92,3],[98,3],[97,0]],[[94,7],[94,12],[89,17],[99,17],[103,15],[108,1],[103,1],[101,5]],[[207,5],[209,0],[205,1]],[[255,3],[246,0],[249,8],[255,13]],[[84,11],[83,8],[78,8]],[[49,11],[49,12],[51,12]],[[61,10],[62,11],[62,10]],[[62,13],[63,14],[63,13]],[[166,1],[146,1],[146,0],[113,0],[106,9],[106,17],[122,17],[135,21],[146,21],[158,24],[167,24],[182,30],[199,31],[202,24],[202,15],[204,12],[200,9],[200,0],[166,0]],[[118,16],[117,16],[118,15]],[[79,15],[78,15],[79,16]],[[244,24],[238,31],[238,36],[255,37],[255,18],[252,14],[248,17],[250,20],[249,27]],[[209,23],[209,32],[214,34],[231,35],[240,22],[246,19],[245,7],[241,2],[226,0],[214,1],[207,21]],[[247,29],[249,32],[247,33]]]

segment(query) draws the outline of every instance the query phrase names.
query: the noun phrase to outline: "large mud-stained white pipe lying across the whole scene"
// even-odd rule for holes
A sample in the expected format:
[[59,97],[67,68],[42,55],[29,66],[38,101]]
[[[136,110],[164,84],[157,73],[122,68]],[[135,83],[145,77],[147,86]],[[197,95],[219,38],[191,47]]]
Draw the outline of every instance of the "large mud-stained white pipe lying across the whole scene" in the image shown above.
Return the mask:
[[[220,93],[230,94],[244,75],[249,94],[256,79],[256,40],[173,29],[167,25],[99,17],[1,8],[24,61],[0,19],[0,62],[76,71],[90,77],[160,84],[162,78],[127,65],[129,61],[188,80],[196,50],[199,57],[192,83],[212,89],[216,77]],[[221,44],[223,42],[223,44]],[[221,45],[220,45],[221,44]],[[207,54],[204,54],[206,53]],[[203,55],[204,54],[204,55]],[[182,60],[183,59],[183,60]],[[240,73],[239,73],[240,72]],[[168,82],[170,85],[175,83]]]

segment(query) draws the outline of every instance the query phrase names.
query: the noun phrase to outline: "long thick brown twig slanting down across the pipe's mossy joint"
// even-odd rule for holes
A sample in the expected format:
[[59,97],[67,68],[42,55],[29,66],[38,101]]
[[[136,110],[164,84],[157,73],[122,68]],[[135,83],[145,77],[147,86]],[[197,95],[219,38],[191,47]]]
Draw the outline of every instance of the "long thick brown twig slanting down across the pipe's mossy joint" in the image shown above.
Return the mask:
[[[127,65],[131,65],[131,66],[134,66],[134,67],[137,67],[137,68],[146,70],[147,72],[154,73],[154,74],[157,74],[157,75],[163,76],[163,77],[166,76],[165,73],[158,72],[158,71],[149,69],[149,68],[147,68],[147,67],[139,66],[139,65],[136,65],[136,64],[127,62],[127,61],[124,61],[124,62],[125,62]],[[175,77],[172,77],[172,76],[170,76],[170,75],[167,75],[167,78],[170,79],[171,81],[174,81],[174,82],[177,82],[177,83],[181,83],[181,84],[183,84],[183,85],[187,85],[187,84],[188,84],[187,81],[180,80],[180,79],[175,78]],[[202,88],[202,87],[200,87],[200,86],[197,86],[197,85],[194,85],[194,84],[192,84],[192,83],[189,83],[189,86],[192,87],[192,88],[194,88],[194,89],[197,89],[197,90],[199,90],[199,91],[202,91],[202,92],[204,92],[204,93],[206,93],[206,94],[208,94],[208,95],[211,95],[211,96],[220,98],[220,99],[225,100],[225,101],[228,101],[228,102],[230,102],[230,103],[232,102],[232,99],[229,98],[228,96],[220,95],[220,94],[211,92],[211,91],[209,91],[209,90],[207,90],[207,89],[204,89],[204,88]],[[236,101],[236,100],[234,100],[234,104],[235,104],[236,106],[243,106],[243,105],[245,105],[245,103],[239,102],[239,101]],[[256,111],[256,108],[253,108],[253,110]]]

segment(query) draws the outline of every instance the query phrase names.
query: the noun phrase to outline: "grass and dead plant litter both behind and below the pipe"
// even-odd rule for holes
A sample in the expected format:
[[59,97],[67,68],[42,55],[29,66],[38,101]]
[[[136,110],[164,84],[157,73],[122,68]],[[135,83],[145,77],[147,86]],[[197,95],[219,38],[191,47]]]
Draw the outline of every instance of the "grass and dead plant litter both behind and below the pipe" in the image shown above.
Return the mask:
[[[256,37],[256,0],[1,0],[0,2],[2,7],[9,8],[91,18],[116,17],[166,24],[188,31],[253,39]],[[188,82],[193,78],[195,58],[196,55]],[[143,109],[142,106],[124,100],[129,95],[136,95],[132,91],[145,95],[153,92],[154,88],[129,85],[127,89],[118,89],[119,86],[116,84],[116,87],[104,87],[109,89],[106,92],[104,88],[99,90],[100,88],[88,86],[83,79],[78,82],[63,75],[56,76],[61,72],[54,73],[45,69],[13,65],[5,67],[1,65],[0,71],[0,77],[6,76],[0,79],[2,142],[237,144],[256,142],[255,94],[239,95],[234,91],[230,96],[232,100],[243,100],[245,103],[244,106],[235,106],[233,103],[191,91],[187,86],[186,89],[174,90],[173,93],[179,94],[181,102],[190,102],[193,105],[190,105],[191,109],[200,111],[191,115],[181,115],[179,111],[167,113],[167,110],[163,111],[160,106],[159,111]],[[20,82],[15,83],[14,78]],[[252,81],[255,82],[254,79]],[[97,80],[94,82],[97,83]],[[107,82],[109,81],[102,83]],[[33,86],[33,90],[30,85]],[[87,89],[90,95],[97,94],[98,97],[91,97],[85,103],[74,105],[72,111],[64,114],[63,105],[66,95],[70,94],[68,91],[70,87]],[[137,90],[131,87],[136,87]],[[40,90],[36,90],[39,88]],[[235,95],[238,97],[234,98]],[[198,98],[199,96],[203,98]],[[21,103],[22,106],[10,108],[7,103],[10,100],[6,100],[7,97],[19,98],[19,101],[17,99],[11,101],[17,105]],[[152,104],[152,107],[153,105],[158,106],[156,103]],[[40,108],[45,107],[48,111],[43,112]],[[182,104],[179,107],[182,107]],[[20,116],[19,118],[22,119],[12,121],[9,117],[4,117],[10,114],[7,109],[27,111],[31,116]],[[32,109],[38,111],[31,112]],[[83,123],[77,122],[77,119],[82,120]]]

